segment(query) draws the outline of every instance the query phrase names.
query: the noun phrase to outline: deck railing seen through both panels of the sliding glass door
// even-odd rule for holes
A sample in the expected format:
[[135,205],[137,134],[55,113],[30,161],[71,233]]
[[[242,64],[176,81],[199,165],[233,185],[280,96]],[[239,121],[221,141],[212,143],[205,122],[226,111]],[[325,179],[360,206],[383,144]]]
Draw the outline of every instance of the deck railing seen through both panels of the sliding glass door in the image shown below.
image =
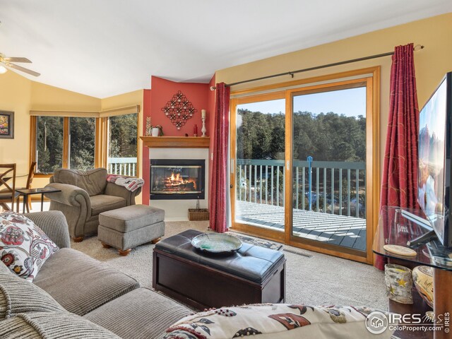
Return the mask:
[[[237,200],[285,206],[284,165],[284,160],[237,159]],[[365,162],[310,165],[293,162],[294,208],[365,218]]]

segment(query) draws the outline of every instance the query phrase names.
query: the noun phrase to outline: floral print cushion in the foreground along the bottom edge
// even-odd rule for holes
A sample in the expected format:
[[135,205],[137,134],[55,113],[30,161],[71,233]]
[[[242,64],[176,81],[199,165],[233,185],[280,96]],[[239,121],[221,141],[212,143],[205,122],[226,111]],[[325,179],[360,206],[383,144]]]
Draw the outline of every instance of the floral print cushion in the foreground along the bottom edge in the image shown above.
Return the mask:
[[[186,316],[167,329],[165,339],[230,339],[261,334],[265,338],[314,338],[306,335],[310,331],[308,328],[311,328],[311,333],[316,333],[316,339],[374,338],[374,334],[364,326],[371,311],[366,307],[311,307],[296,304],[223,307]],[[333,327],[344,335],[328,335],[335,331]],[[308,331],[299,331],[302,328]],[[385,335],[388,338],[391,333]]]

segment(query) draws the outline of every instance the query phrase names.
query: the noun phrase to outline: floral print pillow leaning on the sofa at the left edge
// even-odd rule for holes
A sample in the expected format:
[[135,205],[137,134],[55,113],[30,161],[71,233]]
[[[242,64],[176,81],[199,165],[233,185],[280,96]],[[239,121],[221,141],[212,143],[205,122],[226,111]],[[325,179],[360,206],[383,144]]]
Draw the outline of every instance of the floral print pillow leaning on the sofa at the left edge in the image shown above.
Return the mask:
[[47,258],[58,250],[25,215],[0,213],[1,261],[20,278],[32,281]]

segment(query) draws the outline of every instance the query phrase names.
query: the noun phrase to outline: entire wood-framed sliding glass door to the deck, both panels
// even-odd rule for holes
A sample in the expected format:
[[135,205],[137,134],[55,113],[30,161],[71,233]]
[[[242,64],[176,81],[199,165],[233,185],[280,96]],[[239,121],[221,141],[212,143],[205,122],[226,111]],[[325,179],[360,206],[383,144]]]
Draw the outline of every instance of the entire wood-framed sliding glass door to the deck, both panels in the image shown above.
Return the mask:
[[[367,71],[367,73],[365,73]],[[371,263],[379,69],[231,100],[232,228]]]

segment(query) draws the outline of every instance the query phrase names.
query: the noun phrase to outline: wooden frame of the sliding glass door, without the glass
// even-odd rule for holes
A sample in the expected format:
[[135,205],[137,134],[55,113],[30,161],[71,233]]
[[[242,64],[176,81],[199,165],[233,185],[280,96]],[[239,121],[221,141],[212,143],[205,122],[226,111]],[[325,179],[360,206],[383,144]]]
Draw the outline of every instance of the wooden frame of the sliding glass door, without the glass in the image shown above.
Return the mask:
[[[235,216],[235,171],[230,171],[230,196],[231,196],[231,212],[232,212],[232,229],[238,232],[245,232],[247,234],[256,235],[270,240],[284,242],[290,246],[296,246],[302,249],[309,249],[311,251],[317,251],[323,254],[329,254],[333,256],[339,256],[341,258],[347,258],[362,263],[374,263],[374,255],[372,254],[371,246],[378,225],[379,216],[379,193],[380,193],[380,151],[379,151],[379,135],[380,135],[380,66],[370,67],[367,69],[359,69],[355,71],[347,71],[342,73],[330,74],[327,76],[319,76],[316,78],[302,79],[299,81],[290,81],[286,83],[280,83],[278,85],[261,86],[258,88],[250,88],[248,90],[240,90],[232,92],[231,95],[249,95],[246,97],[232,97],[231,99],[231,151],[230,158],[231,163],[234,164],[236,159],[236,117],[237,117],[237,105],[246,102],[256,102],[263,100],[271,100],[270,97],[273,93],[256,94],[252,93],[265,93],[268,90],[275,91],[275,95],[281,95],[284,93],[286,114],[285,114],[285,231],[278,232],[275,230],[269,230],[263,227],[256,227],[252,225],[245,225],[234,221]],[[344,80],[344,78],[353,78],[356,80]],[[302,88],[294,88],[297,85],[306,85],[309,83],[321,83],[325,81],[332,81],[338,79],[338,81],[323,83],[321,85],[307,85]],[[358,251],[349,251],[344,247],[329,245],[319,247],[318,242],[309,241],[307,239],[299,238],[294,239],[292,236],[292,95],[293,93],[306,93],[307,91],[316,91],[320,88],[335,87],[338,88],[341,85],[350,83],[364,83],[366,85],[367,94],[367,114],[366,114],[366,215],[367,215],[367,242],[366,251],[361,254],[357,254]],[[278,90],[279,89],[279,90]],[[278,94],[277,94],[278,93]],[[369,100],[369,98],[371,98]],[[247,101],[249,100],[249,101]],[[290,112],[290,114],[287,114]],[[321,244],[321,243],[320,243]],[[323,244],[325,245],[325,244]]]

